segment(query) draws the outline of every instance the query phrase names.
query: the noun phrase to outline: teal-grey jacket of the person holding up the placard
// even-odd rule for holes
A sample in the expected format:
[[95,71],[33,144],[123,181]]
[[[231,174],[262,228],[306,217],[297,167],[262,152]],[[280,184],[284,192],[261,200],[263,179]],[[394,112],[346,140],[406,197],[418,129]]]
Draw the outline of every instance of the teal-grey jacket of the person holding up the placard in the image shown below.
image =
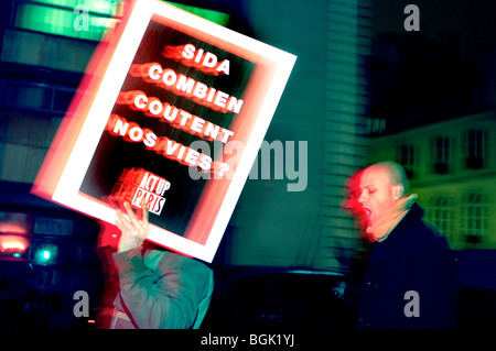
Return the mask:
[[120,297],[138,328],[192,328],[212,295],[212,270],[205,264],[166,251],[150,270],[141,248],[114,253]]

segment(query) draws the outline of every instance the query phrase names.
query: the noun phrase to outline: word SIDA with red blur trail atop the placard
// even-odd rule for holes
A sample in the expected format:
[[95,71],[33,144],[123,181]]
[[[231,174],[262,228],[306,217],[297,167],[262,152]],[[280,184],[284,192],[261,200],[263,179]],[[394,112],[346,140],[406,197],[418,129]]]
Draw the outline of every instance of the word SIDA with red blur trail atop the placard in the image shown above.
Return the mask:
[[173,58],[185,66],[202,70],[207,75],[218,76],[219,74],[229,75],[229,61],[218,61],[213,53],[206,52],[203,48],[196,50],[193,44],[185,44],[180,46],[165,45],[162,51],[162,56]]

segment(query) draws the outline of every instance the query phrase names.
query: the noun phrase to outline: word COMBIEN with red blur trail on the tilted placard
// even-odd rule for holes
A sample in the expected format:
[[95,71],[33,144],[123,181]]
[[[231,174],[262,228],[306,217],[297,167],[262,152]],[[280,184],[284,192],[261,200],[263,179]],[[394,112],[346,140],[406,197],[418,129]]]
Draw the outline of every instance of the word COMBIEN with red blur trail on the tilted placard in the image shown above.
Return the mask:
[[196,103],[208,107],[215,111],[239,113],[244,100],[217,90],[213,87],[176,74],[172,68],[163,68],[159,63],[133,64],[129,69],[133,77],[142,78],[147,83],[153,83],[162,89],[184,96]]

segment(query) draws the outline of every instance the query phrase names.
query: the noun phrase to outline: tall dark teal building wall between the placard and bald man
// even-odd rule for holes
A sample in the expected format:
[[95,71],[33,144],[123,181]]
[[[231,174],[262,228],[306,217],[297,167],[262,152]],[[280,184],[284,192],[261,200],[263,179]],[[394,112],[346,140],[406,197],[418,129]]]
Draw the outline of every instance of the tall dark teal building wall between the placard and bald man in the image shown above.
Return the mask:
[[[284,162],[278,169],[272,161],[271,171],[284,176],[249,177],[231,233],[223,239],[227,261],[348,272],[359,233],[342,202],[347,178],[367,160],[368,139],[363,135],[369,103],[371,4],[347,0],[247,4],[256,37],[298,59],[266,135],[274,147],[262,146],[254,165],[260,169],[265,155],[270,152],[274,160],[279,153]],[[293,143],[294,153],[290,147],[278,150],[279,142]],[[290,152],[296,156],[287,158]],[[292,180],[288,169],[299,166],[300,179]],[[305,186],[289,190],[288,185],[298,180]]]

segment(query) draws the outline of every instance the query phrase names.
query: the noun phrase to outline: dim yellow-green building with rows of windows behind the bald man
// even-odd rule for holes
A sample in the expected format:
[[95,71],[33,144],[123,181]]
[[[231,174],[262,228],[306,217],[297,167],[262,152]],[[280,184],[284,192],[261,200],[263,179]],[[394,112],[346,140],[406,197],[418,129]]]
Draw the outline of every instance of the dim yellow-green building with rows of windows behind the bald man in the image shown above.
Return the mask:
[[455,250],[496,249],[496,111],[373,138],[370,162],[402,164],[411,191]]

